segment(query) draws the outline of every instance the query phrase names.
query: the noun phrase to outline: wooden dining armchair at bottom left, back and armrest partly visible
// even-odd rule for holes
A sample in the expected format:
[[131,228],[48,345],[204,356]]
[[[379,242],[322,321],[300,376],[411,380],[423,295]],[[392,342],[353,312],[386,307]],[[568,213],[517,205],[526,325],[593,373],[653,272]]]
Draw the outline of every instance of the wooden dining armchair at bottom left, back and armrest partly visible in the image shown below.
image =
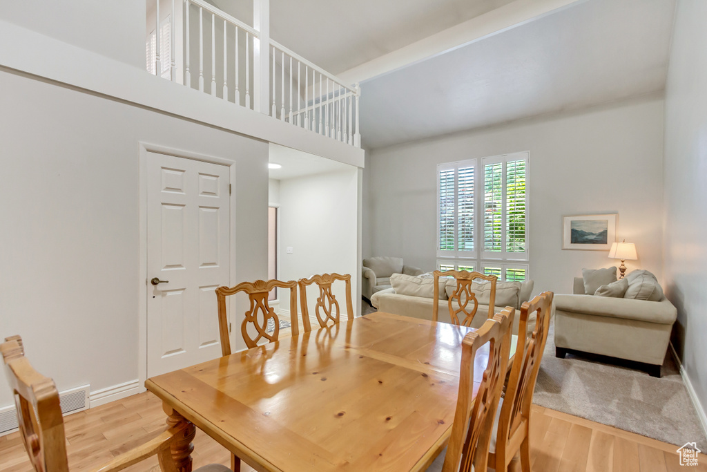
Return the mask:
[[[37,472],[68,472],[64,417],[59,391],[49,377],[37,372],[28,359],[19,336],[0,344],[8,384],[15,397],[17,421],[30,464]],[[154,439],[108,461],[100,472],[122,471],[156,455],[163,472],[177,472],[170,447],[184,439],[187,423],[168,428]],[[220,464],[200,467],[198,472],[227,472]],[[196,471],[195,471],[196,472]]]

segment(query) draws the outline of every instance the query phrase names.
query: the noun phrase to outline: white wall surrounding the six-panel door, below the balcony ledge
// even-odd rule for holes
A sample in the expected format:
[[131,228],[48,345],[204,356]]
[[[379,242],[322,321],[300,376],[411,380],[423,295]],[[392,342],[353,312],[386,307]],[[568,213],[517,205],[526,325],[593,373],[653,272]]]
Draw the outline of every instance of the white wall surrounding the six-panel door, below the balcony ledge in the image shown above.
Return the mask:
[[0,89],[0,338],[22,335],[60,391],[133,381],[145,362],[139,142],[236,162],[236,274],[267,276],[267,143],[7,71]]

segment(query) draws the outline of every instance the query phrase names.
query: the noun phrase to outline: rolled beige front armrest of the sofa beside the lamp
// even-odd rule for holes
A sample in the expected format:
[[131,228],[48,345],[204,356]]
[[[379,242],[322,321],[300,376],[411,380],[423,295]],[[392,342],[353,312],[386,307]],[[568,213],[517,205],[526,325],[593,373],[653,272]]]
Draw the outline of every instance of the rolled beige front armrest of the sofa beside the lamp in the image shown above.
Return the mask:
[[663,325],[672,325],[677,319],[677,309],[667,298],[661,301],[648,301],[596,295],[556,294],[554,304],[557,311],[625,318]]

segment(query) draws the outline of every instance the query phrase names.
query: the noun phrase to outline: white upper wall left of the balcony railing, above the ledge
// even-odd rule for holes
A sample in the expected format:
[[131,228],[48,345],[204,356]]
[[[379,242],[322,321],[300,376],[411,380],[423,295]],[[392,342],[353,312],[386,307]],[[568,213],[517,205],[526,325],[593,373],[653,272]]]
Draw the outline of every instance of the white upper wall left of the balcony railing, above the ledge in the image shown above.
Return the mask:
[[146,1],[4,1],[0,18],[144,68]]

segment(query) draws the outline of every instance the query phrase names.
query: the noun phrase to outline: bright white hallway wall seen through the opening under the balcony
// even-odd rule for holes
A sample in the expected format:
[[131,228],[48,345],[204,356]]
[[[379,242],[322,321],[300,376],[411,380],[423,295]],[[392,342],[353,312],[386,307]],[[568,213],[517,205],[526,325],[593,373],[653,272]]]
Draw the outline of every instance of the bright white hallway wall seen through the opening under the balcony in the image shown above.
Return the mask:
[[[360,265],[357,219],[358,168],[281,180],[281,280],[298,280],[325,272],[351,274],[351,294],[356,301],[356,274]],[[287,253],[288,246],[293,248],[292,254]],[[336,282],[334,296],[341,311],[346,312],[343,287],[343,282]],[[318,293],[308,290],[310,311],[317,296]],[[354,311],[358,305],[354,303]],[[281,309],[286,309],[282,299]]]

